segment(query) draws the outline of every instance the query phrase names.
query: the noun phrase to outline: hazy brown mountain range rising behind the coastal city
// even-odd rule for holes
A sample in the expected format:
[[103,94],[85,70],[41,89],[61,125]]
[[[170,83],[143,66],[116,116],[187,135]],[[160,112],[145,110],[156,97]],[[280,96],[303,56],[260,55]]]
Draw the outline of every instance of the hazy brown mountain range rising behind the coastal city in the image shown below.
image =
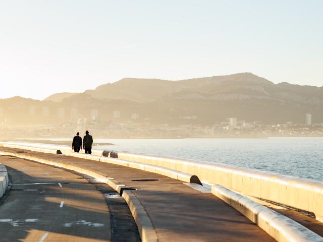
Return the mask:
[[112,112],[120,110],[121,121],[131,121],[131,114],[138,113],[139,122],[151,124],[212,125],[227,117],[264,124],[304,123],[305,113],[312,113],[313,122],[323,122],[323,87],[274,84],[252,73],[181,81],[124,78],[84,93],[53,94],[44,101],[2,99],[0,108],[4,116],[24,113],[20,107],[31,102],[37,105],[38,122],[44,120],[41,106],[51,110],[46,122],[58,121],[59,107],[65,108],[65,120],[77,108],[80,117],[97,109],[103,120],[113,120]]

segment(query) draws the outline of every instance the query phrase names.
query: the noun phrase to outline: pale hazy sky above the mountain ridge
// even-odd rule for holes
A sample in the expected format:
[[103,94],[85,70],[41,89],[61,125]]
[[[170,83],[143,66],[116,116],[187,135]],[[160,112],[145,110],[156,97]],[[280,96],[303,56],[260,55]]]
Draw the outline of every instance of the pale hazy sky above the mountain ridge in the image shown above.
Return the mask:
[[323,85],[323,1],[0,0],[0,98],[124,77]]

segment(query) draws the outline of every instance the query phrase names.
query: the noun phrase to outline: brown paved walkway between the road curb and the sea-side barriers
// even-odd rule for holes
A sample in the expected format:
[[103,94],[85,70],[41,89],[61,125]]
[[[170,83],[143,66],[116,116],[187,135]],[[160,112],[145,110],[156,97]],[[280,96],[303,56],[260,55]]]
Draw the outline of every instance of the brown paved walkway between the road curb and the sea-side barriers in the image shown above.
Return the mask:
[[134,168],[63,155],[4,148],[0,151],[63,162],[114,177],[139,190],[134,194],[145,208],[158,241],[274,241],[239,212],[212,194],[201,193],[181,181]]

